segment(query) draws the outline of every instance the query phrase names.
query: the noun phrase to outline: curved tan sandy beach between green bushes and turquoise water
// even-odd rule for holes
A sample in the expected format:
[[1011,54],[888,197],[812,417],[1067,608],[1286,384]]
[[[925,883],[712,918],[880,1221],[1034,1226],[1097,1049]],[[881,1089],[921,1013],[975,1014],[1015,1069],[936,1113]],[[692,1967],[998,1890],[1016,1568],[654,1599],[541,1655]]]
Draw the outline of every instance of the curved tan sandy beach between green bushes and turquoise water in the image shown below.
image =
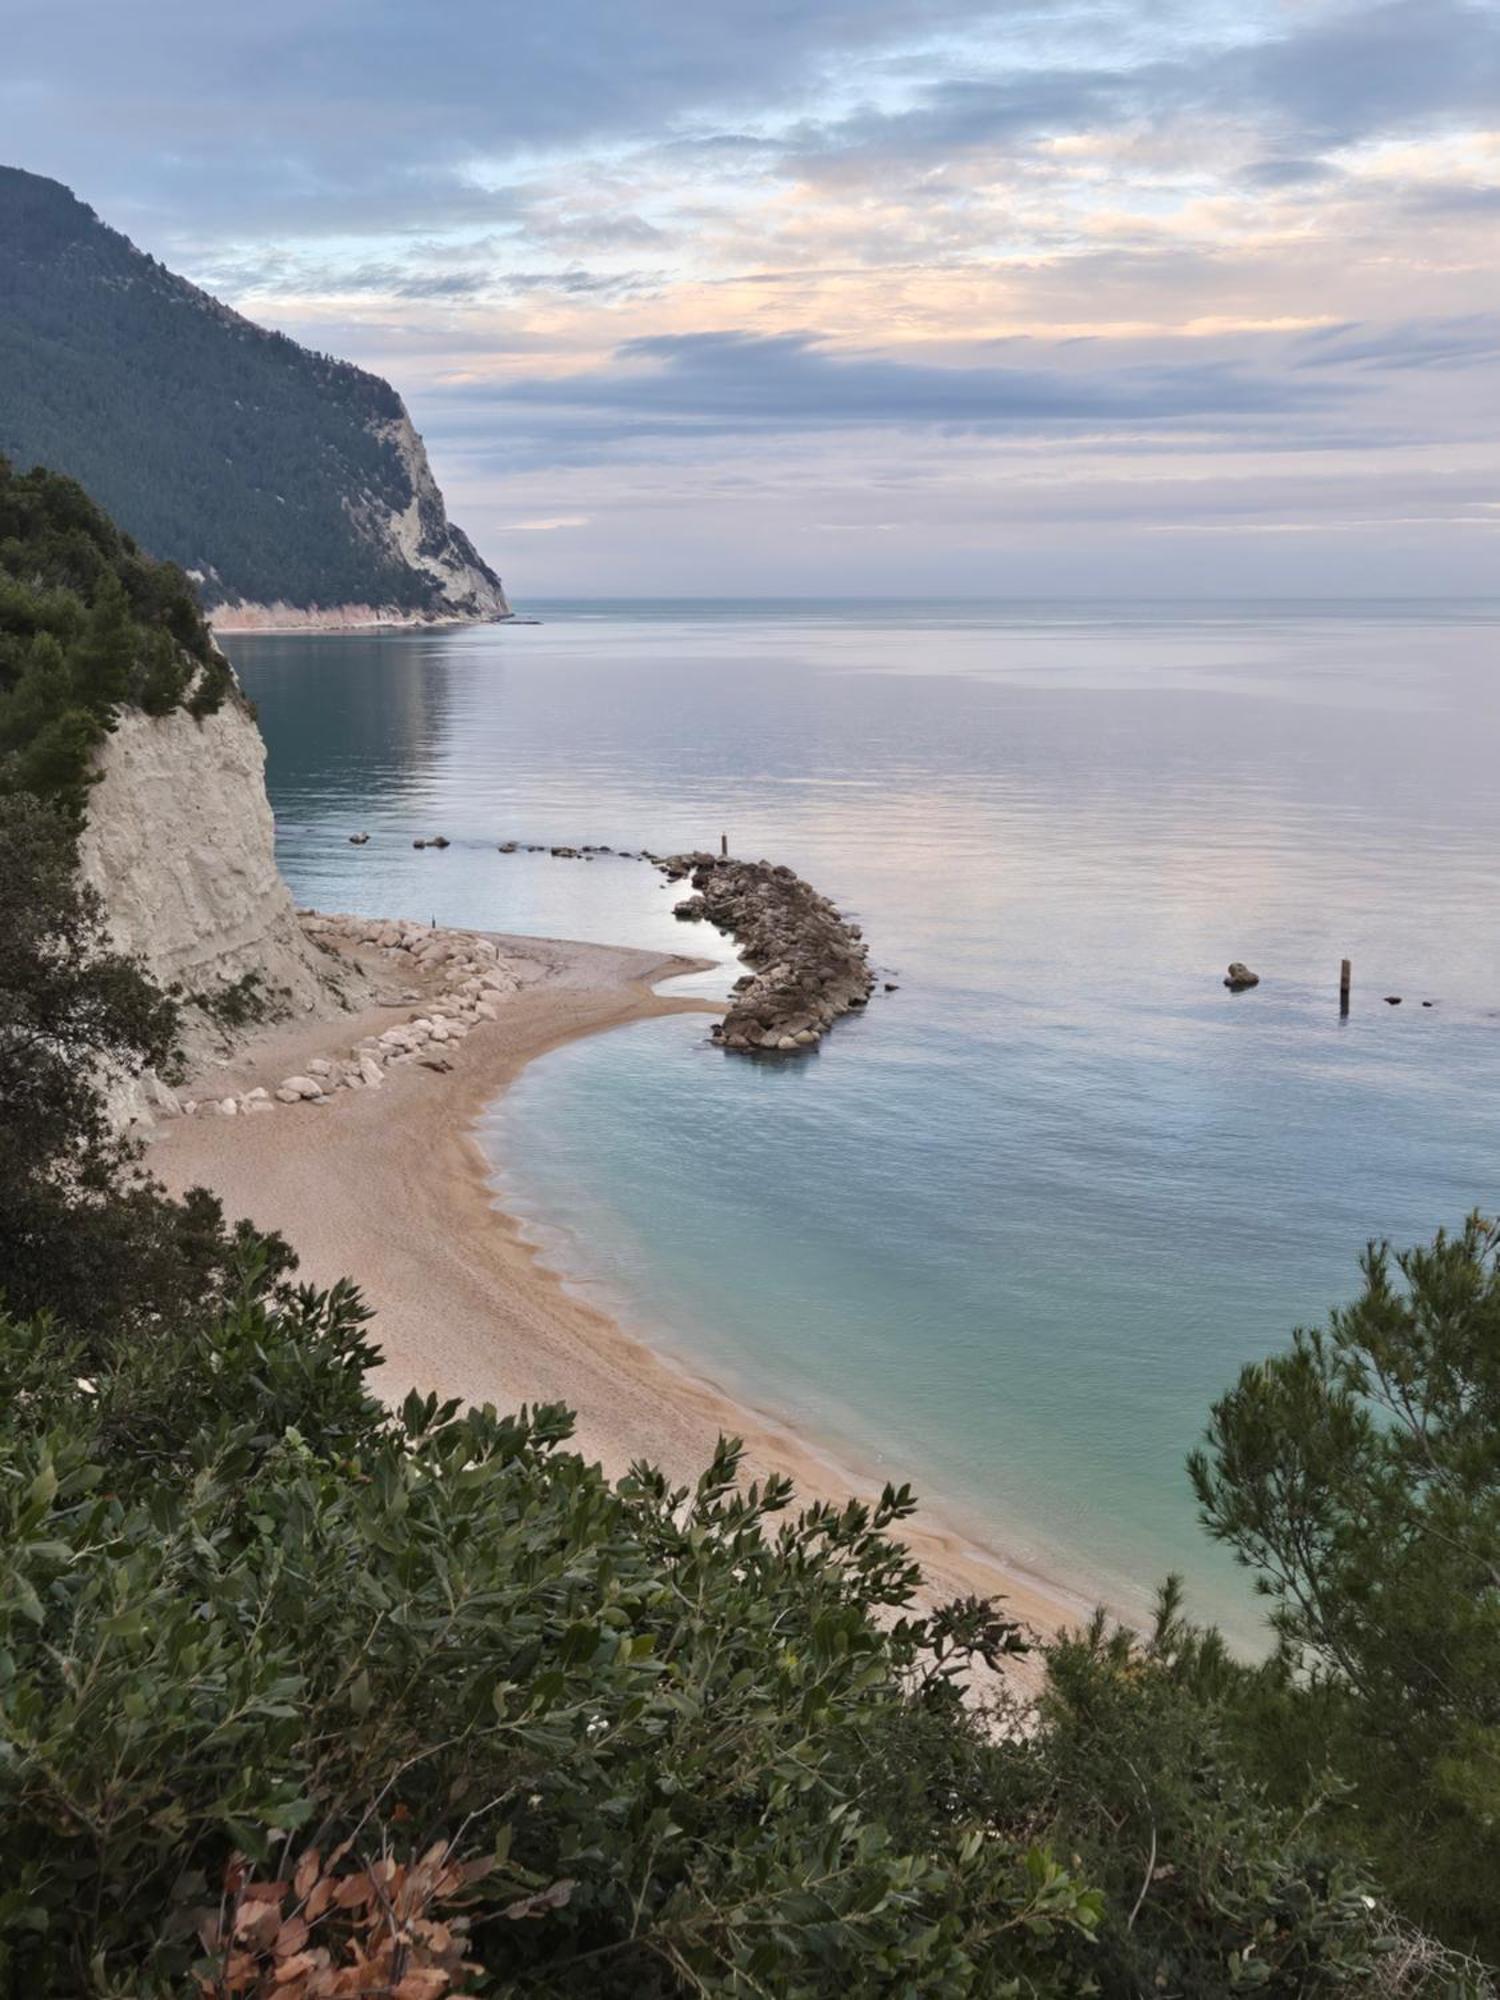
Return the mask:
[[[698,962],[498,942],[530,984],[498,1004],[494,1022],[444,1050],[446,1072],[394,1066],[380,1090],[340,1090],[326,1102],[278,1106],[274,1116],[172,1120],[150,1148],[152,1170],[174,1190],[208,1186],[230,1216],[280,1230],[304,1278],[352,1276],[376,1314],[372,1336],[386,1366],[374,1386],[386,1400],[420,1388],[502,1408],[564,1402],[576,1412],[578,1448],[610,1474],[650,1458],[674,1480],[692,1480],[720,1432],[732,1432],[746,1440],[752,1474],[786,1472],[804,1500],[878,1490],[856,1466],[630,1338],[570,1292],[496,1204],[474,1138],[478,1114],[526,1062],[574,1036],[658,1014],[720,1012],[652,990]],[[216,1096],[274,1088],[314,1056],[344,1052],[412,1012],[406,1002],[266,1028],[204,1088]],[[1006,1562],[1004,1550],[956,1532],[932,1506],[904,1540],[932,1598],[998,1594],[1038,1632],[1076,1624],[1090,1608]]]

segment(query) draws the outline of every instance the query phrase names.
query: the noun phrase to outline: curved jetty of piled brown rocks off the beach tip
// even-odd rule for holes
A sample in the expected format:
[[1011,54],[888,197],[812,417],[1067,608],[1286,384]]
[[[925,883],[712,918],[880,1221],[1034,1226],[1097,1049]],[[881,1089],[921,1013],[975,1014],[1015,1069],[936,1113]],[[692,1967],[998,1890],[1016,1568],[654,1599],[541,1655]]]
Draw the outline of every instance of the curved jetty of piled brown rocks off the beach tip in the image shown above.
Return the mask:
[[874,974],[858,924],[790,868],[724,854],[670,854],[656,866],[668,882],[692,878],[694,894],[674,916],[726,930],[754,968],[714,1024],[722,1048],[804,1054],[842,1014],[868,1004]]

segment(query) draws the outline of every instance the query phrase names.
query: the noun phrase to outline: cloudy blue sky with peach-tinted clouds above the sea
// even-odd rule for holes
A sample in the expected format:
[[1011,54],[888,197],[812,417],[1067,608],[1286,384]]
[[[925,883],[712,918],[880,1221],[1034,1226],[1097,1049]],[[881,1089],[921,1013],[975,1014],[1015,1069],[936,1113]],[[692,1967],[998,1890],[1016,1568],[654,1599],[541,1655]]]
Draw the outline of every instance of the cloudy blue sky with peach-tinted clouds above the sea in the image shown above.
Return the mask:
[[1500,594],[1500,0],[0,0],[512,596]]

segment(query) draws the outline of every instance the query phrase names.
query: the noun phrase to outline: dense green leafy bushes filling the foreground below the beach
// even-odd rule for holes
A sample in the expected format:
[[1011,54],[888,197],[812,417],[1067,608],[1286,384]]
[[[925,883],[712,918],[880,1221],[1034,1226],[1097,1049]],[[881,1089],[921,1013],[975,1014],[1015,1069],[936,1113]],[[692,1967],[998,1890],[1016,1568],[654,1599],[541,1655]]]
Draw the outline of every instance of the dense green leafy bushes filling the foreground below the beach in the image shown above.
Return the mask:
[[1292,1996],[1378,1962],[1354,1870],[1318,1872],[1160,1660],[1078,1640],[1040,1732],[992,1736],[954,1672],[1014,1638],[910,1614],[908,1494],[792,1514],[732,1444],[692,1492],[610,1484],[566,1412],[388,1414],[374,1360],[352,1290],[254,1258],[92,1374],[0,1320],[20,1990],[212,1982],[236,1856],[290,1876],[344,1840],[488,1858],[468,1950],[500,1992]]

